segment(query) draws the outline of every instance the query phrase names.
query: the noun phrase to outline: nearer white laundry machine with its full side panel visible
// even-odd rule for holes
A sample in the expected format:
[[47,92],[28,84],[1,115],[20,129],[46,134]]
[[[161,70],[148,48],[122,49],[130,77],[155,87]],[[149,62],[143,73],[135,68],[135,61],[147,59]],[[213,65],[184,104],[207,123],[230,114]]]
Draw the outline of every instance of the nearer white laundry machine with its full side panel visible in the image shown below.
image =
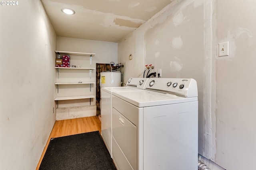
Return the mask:
[[197,170],[194,79],[150,78],[146,90],[112,93],[112,158],[118,170]]

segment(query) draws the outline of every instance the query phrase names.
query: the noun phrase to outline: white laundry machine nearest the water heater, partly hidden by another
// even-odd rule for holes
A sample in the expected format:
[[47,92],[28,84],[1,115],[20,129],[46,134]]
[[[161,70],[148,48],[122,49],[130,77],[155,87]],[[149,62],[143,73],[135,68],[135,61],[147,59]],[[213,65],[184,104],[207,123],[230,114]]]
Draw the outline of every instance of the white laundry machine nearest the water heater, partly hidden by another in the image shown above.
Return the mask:
[[101,135],[112,157],[112,92],[138,91],[146,88],[149,78],[130,78],[124,87],[101,88]]

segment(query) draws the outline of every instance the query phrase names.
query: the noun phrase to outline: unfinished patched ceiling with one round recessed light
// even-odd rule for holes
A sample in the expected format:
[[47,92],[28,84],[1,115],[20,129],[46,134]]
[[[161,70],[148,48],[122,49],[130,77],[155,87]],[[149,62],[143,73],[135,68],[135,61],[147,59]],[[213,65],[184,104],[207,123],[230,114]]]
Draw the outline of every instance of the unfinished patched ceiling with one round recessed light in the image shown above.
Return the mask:
[[[173,0],[41,0],[57,36],[118,42]],[[74,15],[64,14],[71,8]]]

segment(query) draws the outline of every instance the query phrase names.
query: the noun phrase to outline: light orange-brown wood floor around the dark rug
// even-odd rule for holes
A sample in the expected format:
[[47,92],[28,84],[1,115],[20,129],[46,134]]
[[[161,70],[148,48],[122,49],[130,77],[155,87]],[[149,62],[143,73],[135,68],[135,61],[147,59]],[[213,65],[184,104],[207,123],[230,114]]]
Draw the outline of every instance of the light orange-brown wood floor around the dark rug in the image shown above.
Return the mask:
[[39,166],[42,162],[42,159],[44,157],[44,154],[50,143],[51,138],[75,135],[79,133],[86,133],[92,131],[100,131],[101,133],[101,122],[98,116],[56,121],[50,134],[50,137],[46,143],[46,146],[44,147],[44,151],[38,162],[36,170],[39,169]]

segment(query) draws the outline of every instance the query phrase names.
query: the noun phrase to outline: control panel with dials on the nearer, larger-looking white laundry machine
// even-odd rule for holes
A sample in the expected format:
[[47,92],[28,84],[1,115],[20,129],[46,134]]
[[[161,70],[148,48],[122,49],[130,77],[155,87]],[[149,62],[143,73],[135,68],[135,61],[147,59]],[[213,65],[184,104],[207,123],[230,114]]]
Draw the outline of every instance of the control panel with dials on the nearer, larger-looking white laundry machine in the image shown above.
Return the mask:
[[184,97],[198,96],[197,83],[192,78],[150,78],[146,90]]

